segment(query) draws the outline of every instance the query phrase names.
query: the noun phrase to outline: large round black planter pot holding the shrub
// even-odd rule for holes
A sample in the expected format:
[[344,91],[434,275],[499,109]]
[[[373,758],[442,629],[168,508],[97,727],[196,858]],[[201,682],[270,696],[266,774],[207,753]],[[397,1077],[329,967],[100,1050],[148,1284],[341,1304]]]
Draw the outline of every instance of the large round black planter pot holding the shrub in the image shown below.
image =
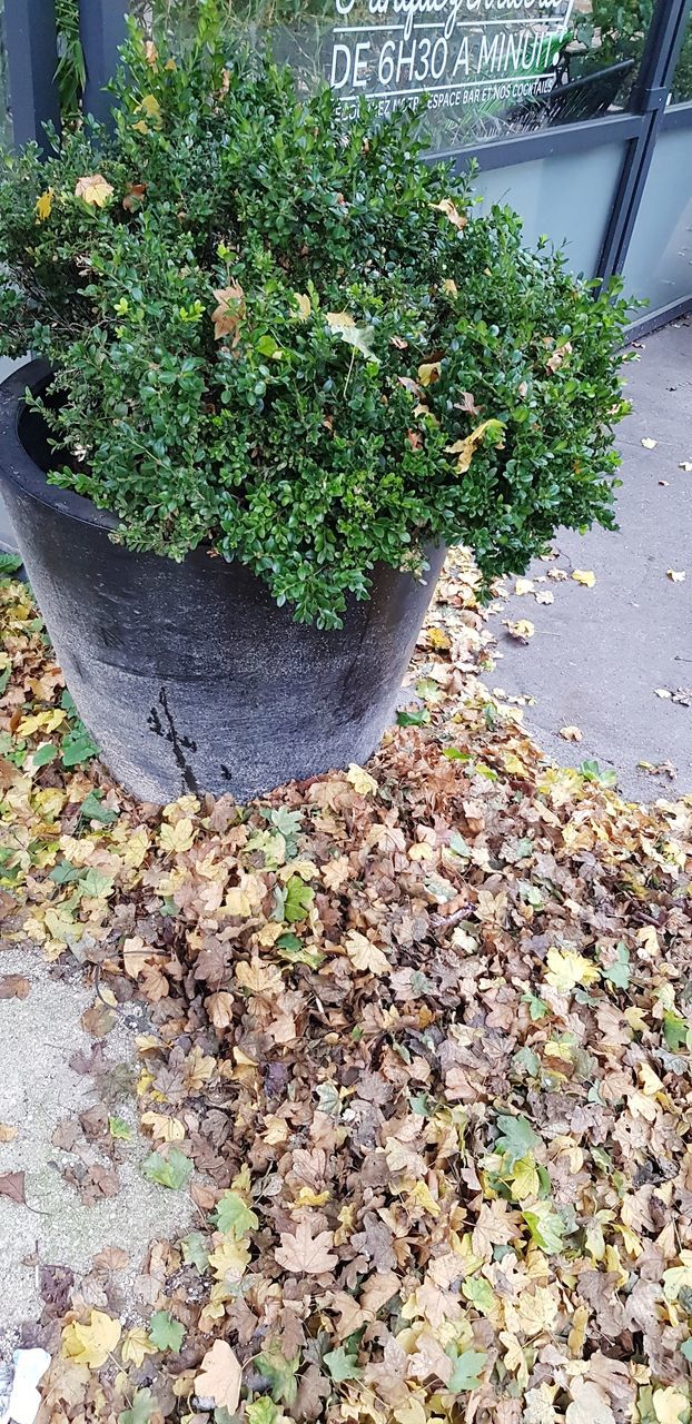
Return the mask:
[[384,564],[340,631],[295,624],[242,564],[198,550],[182,564],[132,554],[115,520],[47,484],[50,451],[27,386],[0,386],[0,480],[24,565],[67,685],[104,760],[135,796],[238,800],[365,762],[393,719],[440,572],[426,584]]

